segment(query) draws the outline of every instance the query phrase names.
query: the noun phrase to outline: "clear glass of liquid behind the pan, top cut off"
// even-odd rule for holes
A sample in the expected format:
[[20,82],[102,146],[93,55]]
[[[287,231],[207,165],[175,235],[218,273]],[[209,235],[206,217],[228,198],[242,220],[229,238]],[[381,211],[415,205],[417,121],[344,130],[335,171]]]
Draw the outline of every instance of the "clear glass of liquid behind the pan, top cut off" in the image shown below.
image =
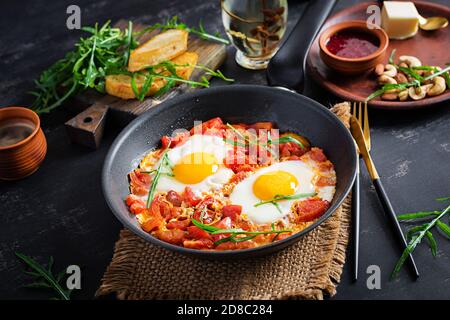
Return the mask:
[[287,0],[221,0],[225,31],[236,47],[236,62],[265,69],[286,31]]

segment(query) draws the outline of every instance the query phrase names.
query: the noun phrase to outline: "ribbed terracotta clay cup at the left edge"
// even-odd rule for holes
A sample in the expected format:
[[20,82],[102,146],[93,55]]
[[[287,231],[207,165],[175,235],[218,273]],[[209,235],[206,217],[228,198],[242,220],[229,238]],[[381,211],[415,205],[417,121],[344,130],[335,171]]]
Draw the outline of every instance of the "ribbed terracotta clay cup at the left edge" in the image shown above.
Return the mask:
[[33,124],[33,132],[23,140],[0,146],[0,179],[17,180],[34,173],[45,158],[47,141],[41,129],[39,116],[23,107],[0,109],[0,123],[8,119],[25,119]]

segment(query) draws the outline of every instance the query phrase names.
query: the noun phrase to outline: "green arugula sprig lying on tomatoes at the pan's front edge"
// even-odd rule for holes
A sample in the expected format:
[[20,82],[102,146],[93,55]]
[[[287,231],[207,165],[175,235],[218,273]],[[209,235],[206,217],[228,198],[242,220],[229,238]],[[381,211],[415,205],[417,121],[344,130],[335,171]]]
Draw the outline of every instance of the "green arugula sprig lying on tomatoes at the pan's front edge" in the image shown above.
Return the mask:
[[[200,221],[197,221],[195,219],[192,219],[192,223],[197,226],[198,228],[208,232],[209,234],[230,234],[230,236],[220,239],[216,242],[214,242],[215,245],[219,245],[224,242],[243,242],[248,241],[260,234],[275,234],[279,235],[281,233],[287,233],[292,232],[292,230],[288,229],[282,229],[282,230],[275,230],[274,226],[272,225],[272,230],[270,231],[244,231],[242,229],[221,229],[218,227],[214,227],[212,225],[201,223]],[[246,237],[238,237],[239,235],[247,235]]]

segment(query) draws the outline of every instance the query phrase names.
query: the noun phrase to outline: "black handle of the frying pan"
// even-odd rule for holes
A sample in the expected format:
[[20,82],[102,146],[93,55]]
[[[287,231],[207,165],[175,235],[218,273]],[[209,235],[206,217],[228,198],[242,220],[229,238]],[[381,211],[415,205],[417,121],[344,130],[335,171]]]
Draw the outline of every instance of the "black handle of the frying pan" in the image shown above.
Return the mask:
[[333,9],[336,0],[310,0],[283,46],[267,68],[270,86],[303,91],[304,70],[309,48]]

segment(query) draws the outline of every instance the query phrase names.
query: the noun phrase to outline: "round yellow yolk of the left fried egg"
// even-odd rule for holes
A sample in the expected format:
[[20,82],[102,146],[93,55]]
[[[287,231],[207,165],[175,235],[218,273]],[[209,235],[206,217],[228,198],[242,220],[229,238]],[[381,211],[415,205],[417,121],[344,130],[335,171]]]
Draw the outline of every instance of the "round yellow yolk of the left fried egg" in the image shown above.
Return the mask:
[[219,161],[210,153],[194,152],[185,155],[173,167],[175,179],[185,184],[196,184],[219,170]]

